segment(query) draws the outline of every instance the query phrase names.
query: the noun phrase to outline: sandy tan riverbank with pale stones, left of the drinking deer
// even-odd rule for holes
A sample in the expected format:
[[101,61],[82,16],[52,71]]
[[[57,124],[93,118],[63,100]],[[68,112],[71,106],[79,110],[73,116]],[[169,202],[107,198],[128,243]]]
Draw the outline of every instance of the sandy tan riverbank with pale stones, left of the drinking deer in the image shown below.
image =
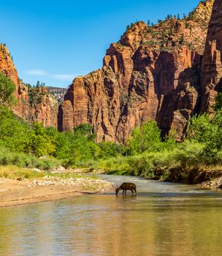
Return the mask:
[[58,200],[113,190],[113,184],[93,178],[52,178],[18,181],[0,178],[0,207]]

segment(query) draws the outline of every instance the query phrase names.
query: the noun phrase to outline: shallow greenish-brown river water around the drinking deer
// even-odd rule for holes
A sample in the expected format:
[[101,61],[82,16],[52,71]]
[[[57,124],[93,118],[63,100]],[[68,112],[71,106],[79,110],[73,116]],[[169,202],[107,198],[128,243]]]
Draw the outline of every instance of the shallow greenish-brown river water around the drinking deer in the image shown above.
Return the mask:
[[137,196],[83,195],[0,208],[0,255],[222,255],[222,193],[137,184]]

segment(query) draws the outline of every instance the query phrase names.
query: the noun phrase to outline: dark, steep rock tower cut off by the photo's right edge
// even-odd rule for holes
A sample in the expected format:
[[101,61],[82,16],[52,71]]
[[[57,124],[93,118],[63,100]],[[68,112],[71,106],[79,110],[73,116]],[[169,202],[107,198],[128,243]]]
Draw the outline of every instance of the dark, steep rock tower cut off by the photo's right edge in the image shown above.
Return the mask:
[[202,60],[201,112],[213,113],[215,97],[222,89],[222,1],[215,0]]

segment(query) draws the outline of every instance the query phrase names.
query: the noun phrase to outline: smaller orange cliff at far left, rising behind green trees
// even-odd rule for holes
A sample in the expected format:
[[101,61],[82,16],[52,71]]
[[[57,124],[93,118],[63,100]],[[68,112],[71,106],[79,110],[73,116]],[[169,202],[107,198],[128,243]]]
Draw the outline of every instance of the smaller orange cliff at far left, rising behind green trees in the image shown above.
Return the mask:
[[58,102],[47,89],[28,89],[18,78],[18,72],[5,45],[0,44],[0,71],[15,83],[17,105],[12,110],[27,121],[38,121],[45,127],[57,127]]

